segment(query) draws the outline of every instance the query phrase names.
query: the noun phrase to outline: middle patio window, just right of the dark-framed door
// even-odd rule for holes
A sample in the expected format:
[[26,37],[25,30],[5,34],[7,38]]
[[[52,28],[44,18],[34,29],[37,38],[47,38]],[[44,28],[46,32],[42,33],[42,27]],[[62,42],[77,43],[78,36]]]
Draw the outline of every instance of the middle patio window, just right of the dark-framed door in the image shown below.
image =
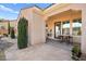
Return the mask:
[[62,23],[62,35],[70,35],[70,21]]

